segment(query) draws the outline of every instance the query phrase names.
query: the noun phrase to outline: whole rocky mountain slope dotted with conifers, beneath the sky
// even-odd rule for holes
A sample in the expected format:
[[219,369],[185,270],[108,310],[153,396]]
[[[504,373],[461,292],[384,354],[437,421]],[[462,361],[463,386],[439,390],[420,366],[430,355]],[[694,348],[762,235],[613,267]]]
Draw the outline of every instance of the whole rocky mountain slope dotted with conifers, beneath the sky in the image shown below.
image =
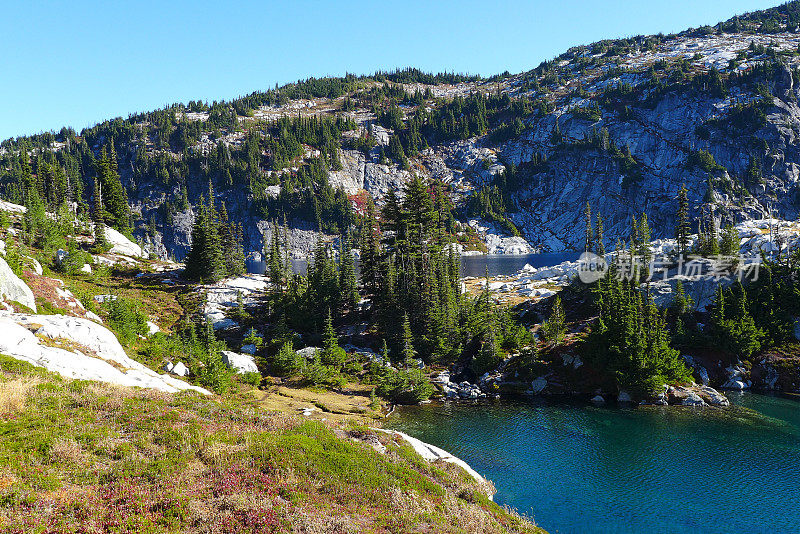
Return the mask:
[[[414,70],[312,79],[230,103],[192,102],[115,119],[80,136],[62,130],[9,140],[0,154],[67,152],[86,141],[96,155],[113,142],[136,235],[146,250],[178,259],[188,250],[194,207],[209,180],[242,224],[246,253],[260,252],[269,221],[287,214],[291,248],[306,253],[321,227],[344,222],[325,213],[314,220],[281,196],[317,159],[325,162],[327,184],[341,189],[356,211],[367,196],[380,204],[413,174],[441,182],[462,208],[458,217],[474,218],[472,226],[495,252],[528,249],[519,241],[497,246],[497,234],[509,237],[511,226],[487,236],[494,227],[481,217],[512,221],[535,248],[582,248],[587,202],[604,218],[612,243],[627,239],[631,217],[641,212],[655,237],[671,236],[682,184],[694,219],[708,215],[721,224],[768,213],[794,219],[800,208],[796,11],[792,2],[676,35],[578,46],[531,71],[490,79]],[[352,122],[326,146],[302,143],[298,156],[279,160],[275,121],[299,117]],[[403,156],[396,154],[398,139]],[[91,169],[75,176],[90,191]],[[13,176],[3,180],[8,188]],[[478,190],[493,186],[502,208],[467,209]],[[319,196],[322,186],[302,187]]]

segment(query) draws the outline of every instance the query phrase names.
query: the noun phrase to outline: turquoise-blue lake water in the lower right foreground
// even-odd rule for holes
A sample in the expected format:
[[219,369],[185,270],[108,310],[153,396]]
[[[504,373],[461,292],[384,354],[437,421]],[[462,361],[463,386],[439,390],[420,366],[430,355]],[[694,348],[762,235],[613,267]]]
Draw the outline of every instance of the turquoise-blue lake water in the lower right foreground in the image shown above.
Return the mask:
[[551,533],[800,532],[800,402],[730,409],[497,402],[388,425],[464,459]]

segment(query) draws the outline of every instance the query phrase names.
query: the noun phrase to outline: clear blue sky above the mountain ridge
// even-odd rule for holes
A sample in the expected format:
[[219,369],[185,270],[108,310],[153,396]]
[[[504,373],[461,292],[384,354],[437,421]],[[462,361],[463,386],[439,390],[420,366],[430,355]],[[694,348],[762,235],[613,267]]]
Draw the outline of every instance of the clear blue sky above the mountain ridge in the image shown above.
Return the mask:
[[0,139],[309,76],[519,72],[570,46],[780,0],[2,2]]

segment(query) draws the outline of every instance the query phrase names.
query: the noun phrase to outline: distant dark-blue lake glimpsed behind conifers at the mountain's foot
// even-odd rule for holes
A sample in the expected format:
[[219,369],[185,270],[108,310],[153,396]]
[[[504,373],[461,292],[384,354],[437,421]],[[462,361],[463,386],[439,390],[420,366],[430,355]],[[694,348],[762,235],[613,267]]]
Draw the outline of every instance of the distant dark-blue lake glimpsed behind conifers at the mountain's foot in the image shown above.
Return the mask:
[[[461,256],[461,276],[483,276],[489,270],[490,276],[514,274],[525,264],[533,267],[549,267],[565,261],[575,261],[579,252],[551,252],[543,254],[481,254],[480,256]],[[291,260],[292,270],[305,274],[306,260]],[[356,262],[358,263],[358,262]],[[264,274],[266,262],[247,261],[247,271]]]

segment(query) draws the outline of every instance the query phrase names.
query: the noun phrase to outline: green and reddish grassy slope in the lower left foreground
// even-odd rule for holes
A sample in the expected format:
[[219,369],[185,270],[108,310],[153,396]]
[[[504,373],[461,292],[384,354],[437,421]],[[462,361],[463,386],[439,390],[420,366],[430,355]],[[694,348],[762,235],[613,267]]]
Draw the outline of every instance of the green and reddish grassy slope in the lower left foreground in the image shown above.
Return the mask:
[[[379,453],[367,436],[387,447]],[[2,532],[537,532],[364,426],[69,381],[0,356]]]

